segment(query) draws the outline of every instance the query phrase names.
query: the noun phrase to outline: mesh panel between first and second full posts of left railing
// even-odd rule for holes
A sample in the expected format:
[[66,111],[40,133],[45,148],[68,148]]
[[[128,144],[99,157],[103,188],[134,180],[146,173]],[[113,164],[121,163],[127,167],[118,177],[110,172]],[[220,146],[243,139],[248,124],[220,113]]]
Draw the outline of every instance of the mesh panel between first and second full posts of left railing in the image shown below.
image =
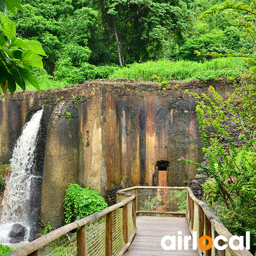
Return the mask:
[[106,215],[86,224],[86,244],[88,256],[105,256]]

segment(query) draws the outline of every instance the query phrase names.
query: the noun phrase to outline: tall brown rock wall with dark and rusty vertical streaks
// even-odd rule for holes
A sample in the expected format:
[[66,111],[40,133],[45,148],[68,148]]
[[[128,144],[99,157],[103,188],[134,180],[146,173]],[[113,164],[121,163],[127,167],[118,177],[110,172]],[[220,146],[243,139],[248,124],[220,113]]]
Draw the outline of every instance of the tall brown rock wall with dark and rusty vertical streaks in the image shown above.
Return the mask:
[[[209,85],[220,93],[231,86],[226,80],[180,83],[198,93],[208,92]],[[164,90],[157,83],[104,79],[41,94],[19,92],[12,99],[0,95],[0,162],[9,162],[26,119],[43,106],[47,135],[41,213],[44,223],[54,227],[64,220],[68,183],[97,189],[113,204],[116,189],[157,185],[163,168],[158,163],[166,163],[162,183],[186,186],[196,170],[177,160],[202,161],[193,99],[172,86]]]

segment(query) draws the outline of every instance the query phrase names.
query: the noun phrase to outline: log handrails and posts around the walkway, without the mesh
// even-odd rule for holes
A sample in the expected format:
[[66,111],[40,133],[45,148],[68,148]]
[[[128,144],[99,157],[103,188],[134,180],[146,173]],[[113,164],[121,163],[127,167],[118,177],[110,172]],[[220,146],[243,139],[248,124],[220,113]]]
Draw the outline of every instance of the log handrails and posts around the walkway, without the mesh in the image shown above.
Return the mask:
[[[127,191],[134,189],[134,194],[127,193]],[[90,216],[87,216],[85,218],[82,218],[81,220],[75,221],[73,223],[70,223],[64,227],[60,227],[57,230],[54,230],[50,233],[48,233],[45,236],[42,236],[29,244],[26,244],[25,246],[7,254],[7,256],[38,256],[38,250],[43,247],[46,244],[49,244],[53,240],[57,239],[60,236],[63,236],[64,234],[67,234],[68,232],[75,233],[77,232],[77,241],[78,241],[78,256],[86,256],[86,232],[85,232],[85,225],[91,221],[94,221],[104,215],[106,215],[106,256],[112,255],[112,245],[113,245],[113,211],[119,208],[122,208],[122,216],[123,216],[123,223],[122,223],[122,230],[123,230],[123,237],[124,241],[126,243],[125,247],[119,252],[118,256],[121,256],[121,253],[125,252],[128,247],[131,245],[131,241],[135,236],[135,233],[137,231],[136,227],[136,213],[152,213],[157,214],[160,213],[159,211],[141,211],[137,209],[138,206],[138,198],[137,194],[139,193],[138,189],[178,189],[178,190],[187,190],[187,210],[186,212],[164,212],[161,211],[162,214],[178,214],[178,215],[186,215],[189,214],[189,225],[191,224],[191,227],[193,229],[193,224],[195,222],[195,214],[194,214],[194,208],[195,204],[198,204],[198,218],[199,218],[199,235],[201,236],[204,234],[204,227],[207,227],[207,234],[211,236],[212,232],[210,229],[214,229],[215,232],[219,236],[225,236],[228,240],[232,237],[232,234],[227,230],[226,227],[222,224],[222,222],[214,215],[214,213],[209,209],[207,204],[200,201],[198,198],[193,195],[192,190],[188,187],[152,187],[152,186],[134,186],[127,189],[121,189],[117,191],[120,195],[125,195],[128,198],[125,198],[123,201],[114,204],[111,207],[108,207],[106,209],[103,209],[99,212],[96,212]],[[134,232],[128,238],[128,203],[132,201],[132,219],[133,224],[135,227]],[[227,243],[227,242],[225,242]],[[235,245],[238,245],[238,241],[234,241]],[[232,250],[230,251],[233,253],[234,256],[252,256],[252,254],[244,248],[244,250]],[[207,253],[210,255],[210,252]]]

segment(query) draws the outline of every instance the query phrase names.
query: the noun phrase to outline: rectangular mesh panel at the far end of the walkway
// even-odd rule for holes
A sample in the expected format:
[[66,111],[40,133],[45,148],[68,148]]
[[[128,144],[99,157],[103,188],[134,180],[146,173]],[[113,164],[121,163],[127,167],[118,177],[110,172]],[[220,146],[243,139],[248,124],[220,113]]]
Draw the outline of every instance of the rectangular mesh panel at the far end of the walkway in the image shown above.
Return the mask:
[[186,212],[186,189],[137,190],[139,211]]

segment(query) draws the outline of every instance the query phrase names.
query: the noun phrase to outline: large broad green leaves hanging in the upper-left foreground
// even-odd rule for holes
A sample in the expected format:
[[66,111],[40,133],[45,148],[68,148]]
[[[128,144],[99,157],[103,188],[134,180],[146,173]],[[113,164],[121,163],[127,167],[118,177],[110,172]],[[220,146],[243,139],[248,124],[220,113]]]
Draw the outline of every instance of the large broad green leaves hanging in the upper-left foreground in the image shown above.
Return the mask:
[[15,23],[6,17],[6,10],[15,15],[15,8],[23,11],[19,0],[0,0],[1,29],[4,34],[0,34],[0,86],[5,95],[7,89],[13,94],[16,84],[25,90],[25,81],[40,90],[37,80],[29,70],[32,71],[32,67],[43,68],[40,55],[47,56],[40,42],[16,37]]

